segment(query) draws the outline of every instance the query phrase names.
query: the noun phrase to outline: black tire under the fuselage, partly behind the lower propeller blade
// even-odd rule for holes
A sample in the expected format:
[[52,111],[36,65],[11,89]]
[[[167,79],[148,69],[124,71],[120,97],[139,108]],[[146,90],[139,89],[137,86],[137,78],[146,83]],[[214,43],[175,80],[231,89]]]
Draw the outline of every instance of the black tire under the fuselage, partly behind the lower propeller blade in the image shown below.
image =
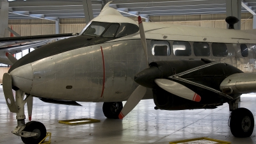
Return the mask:
[[102,110],[107,118],[118,119],[119,113],[123,109],[122,102],[104,102]]

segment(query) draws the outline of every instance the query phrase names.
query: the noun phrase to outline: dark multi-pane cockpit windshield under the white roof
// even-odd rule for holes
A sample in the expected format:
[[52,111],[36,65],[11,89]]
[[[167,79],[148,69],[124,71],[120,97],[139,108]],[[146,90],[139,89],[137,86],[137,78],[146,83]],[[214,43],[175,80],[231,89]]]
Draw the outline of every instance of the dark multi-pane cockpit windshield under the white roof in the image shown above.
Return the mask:
[[120,38],[139,31],[136,24],[92,22],[84,31],[83,35],[102,36],[104,38]]

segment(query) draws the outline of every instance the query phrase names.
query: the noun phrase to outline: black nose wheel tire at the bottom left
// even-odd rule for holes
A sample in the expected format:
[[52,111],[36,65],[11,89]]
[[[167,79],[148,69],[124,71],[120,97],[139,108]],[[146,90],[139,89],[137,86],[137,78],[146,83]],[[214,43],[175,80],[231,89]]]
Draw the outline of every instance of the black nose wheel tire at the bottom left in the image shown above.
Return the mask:
[[26,144],[40,143],[40,141],[42,141],[46,136],[45,126],[40,122],[35,122],[35,121],[28,122],[23,131],[38,133],[37,136],[33,136],[29,138],[21,137],[21,140],[23,141],[23,143],[26,143]]

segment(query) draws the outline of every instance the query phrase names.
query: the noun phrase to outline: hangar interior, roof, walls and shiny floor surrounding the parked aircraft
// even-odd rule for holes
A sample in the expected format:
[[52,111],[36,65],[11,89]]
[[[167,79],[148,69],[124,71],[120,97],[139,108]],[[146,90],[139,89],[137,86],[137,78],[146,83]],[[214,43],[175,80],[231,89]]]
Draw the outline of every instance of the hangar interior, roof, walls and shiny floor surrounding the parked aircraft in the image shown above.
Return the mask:
[[[17,33],[14,36],[79,33],[92,17],[99,15],[106,3],[108,0],[0,1],[0,24],[5,26],[7,23]],[[3,15],[6,13],[4,6],[8,6],[8,17]],[[140,15],[144,22],[222,29],[227,29],[225,18],[232,15],[240,19],[236,29],[256,29],[255,0],[116,0],[111,7],[136,21]],[[10,36],[11,32],[4,35]],[[28,50],[17,52],[16,56],[21,58],[26,53]],[[1,76],[9,68],[2,64]],[[0,87],[0,95],[0,144],[22,143],[20,137],[11,133],[17,125],[16,115],[6,106],[3,87]],[[255,102],[255,93],[249,93],[242,95],[239,104],[256,116]],[[216,109],[161,111],[154,109],[152,99],[141,100],[124,120],[106,118],[102,113],[102,102],[79,104],[83,107],[48,104],[34,99],[32,120],[45,124],[47,132],[52,133],[51,143],[169,143],[202,137],[231,143],[256,143],[255,130],[249,138],[236,138],[231,134],[227,103]],[[77,118],[95,118],[100,122],[84,125],[58,123],[58,120]]]

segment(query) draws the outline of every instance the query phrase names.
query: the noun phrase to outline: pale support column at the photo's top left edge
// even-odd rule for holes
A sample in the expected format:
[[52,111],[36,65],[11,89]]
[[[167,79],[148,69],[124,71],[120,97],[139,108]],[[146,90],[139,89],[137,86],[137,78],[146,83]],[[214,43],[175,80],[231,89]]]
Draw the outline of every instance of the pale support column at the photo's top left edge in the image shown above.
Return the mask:
[[8,8],[9,2],[7,0],[0,0],[0,38],[8,37]]

